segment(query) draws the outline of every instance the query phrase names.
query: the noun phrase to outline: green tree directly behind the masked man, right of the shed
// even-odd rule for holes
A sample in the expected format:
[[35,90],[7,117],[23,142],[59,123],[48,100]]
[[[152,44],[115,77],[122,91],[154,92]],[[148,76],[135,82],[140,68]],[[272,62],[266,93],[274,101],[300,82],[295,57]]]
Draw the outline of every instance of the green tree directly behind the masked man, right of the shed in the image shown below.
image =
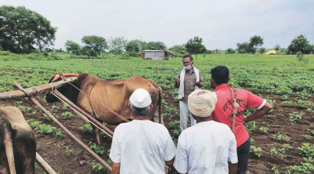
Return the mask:
[[185,44],[185,48],[189,54],[195,54],[195,58],[197,60],[197,55],[206,53],[207,49],[205,45],[202,44],[203,39],[195,36],[192,39],[189,39]]

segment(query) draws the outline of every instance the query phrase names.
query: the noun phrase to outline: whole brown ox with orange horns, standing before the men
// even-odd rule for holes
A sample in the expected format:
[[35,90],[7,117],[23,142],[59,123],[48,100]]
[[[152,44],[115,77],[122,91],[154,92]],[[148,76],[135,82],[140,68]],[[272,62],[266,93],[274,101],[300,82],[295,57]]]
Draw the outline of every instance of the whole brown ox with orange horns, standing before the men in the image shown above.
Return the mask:
[[[49,81],[62,80],[62,74],[57,74]],[[127,120],[133,120],[133,116],[128,109],[129,98],[134,90],[138,88],[146,89],[152,99],[154,109],[150,112],[151,120],[164,124],[162,118],[162,90],[153,80],[145,79],[143,77],[133,77],[129,79],[121,80],[105,80],[90,75],[88,73],[81,73],[79,75],[69,74],[64,76],[78,76],[78,79],[73,83],[78,89],[84,93],[90,95],[90,98],[84,93],[75,89],[72,85],[58,88],[58,91],[66,96],[73,103],[82,108],[89,115],[93,115],[96,119],[105,121],[108,124],[119,124],[123,122],[121,118],[112,114],[105,107],[99,105],[105,105],[111,110],[114,110],[119,115],[123,116]],[[58,101],[58,99],[51,95],[46,94],[46,101],[49,103]],[[96,141],[101,143],[100,131],[92,125]]]

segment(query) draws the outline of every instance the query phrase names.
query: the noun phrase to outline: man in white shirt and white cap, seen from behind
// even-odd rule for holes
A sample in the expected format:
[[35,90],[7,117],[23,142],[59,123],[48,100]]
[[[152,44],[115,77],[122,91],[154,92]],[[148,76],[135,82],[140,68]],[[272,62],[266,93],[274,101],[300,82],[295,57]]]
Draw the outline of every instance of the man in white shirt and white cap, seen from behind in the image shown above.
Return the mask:
[[134,120],[118,125],[113,134],[109,155],[113,174],[165,174],[165,164],[173,165],[176,147],[166,127],[149,118],[151,103],[145,89],[131,95]]

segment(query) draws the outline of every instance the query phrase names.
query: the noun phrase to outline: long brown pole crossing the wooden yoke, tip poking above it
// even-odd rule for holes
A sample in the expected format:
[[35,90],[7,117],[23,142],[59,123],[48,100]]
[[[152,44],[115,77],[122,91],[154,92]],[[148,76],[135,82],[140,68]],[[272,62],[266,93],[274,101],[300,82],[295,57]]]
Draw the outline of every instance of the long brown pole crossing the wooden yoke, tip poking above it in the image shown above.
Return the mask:
[[[19,90],[24,91],[24,88],[19,85],[17,82],[14,82],[15,86]],[[107,164],[100,156],[98,156],[94,151],[92,151],[88,146],[86,146],[81,140],[79,140],[68,128],[66,128],[59,120],[57,120],[48,110],[46,110],[34,97],[30,97],[30,100],[38,106],[53,122],[55,122],[68,136],[70,136],[79,146],[81,146],[87,153],[93,156],[101,165],[106,167],[109,171],[112,171],[112,168]]]

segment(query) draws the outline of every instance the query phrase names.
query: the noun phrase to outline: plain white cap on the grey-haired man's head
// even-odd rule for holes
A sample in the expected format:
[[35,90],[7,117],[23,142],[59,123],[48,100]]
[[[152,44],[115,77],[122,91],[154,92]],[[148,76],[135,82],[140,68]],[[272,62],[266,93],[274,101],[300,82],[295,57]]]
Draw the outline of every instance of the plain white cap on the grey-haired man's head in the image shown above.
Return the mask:
[[152,99],[147,90],[138,88],[131,95],[130,102],[137,108],[145,108],[152,103]]

